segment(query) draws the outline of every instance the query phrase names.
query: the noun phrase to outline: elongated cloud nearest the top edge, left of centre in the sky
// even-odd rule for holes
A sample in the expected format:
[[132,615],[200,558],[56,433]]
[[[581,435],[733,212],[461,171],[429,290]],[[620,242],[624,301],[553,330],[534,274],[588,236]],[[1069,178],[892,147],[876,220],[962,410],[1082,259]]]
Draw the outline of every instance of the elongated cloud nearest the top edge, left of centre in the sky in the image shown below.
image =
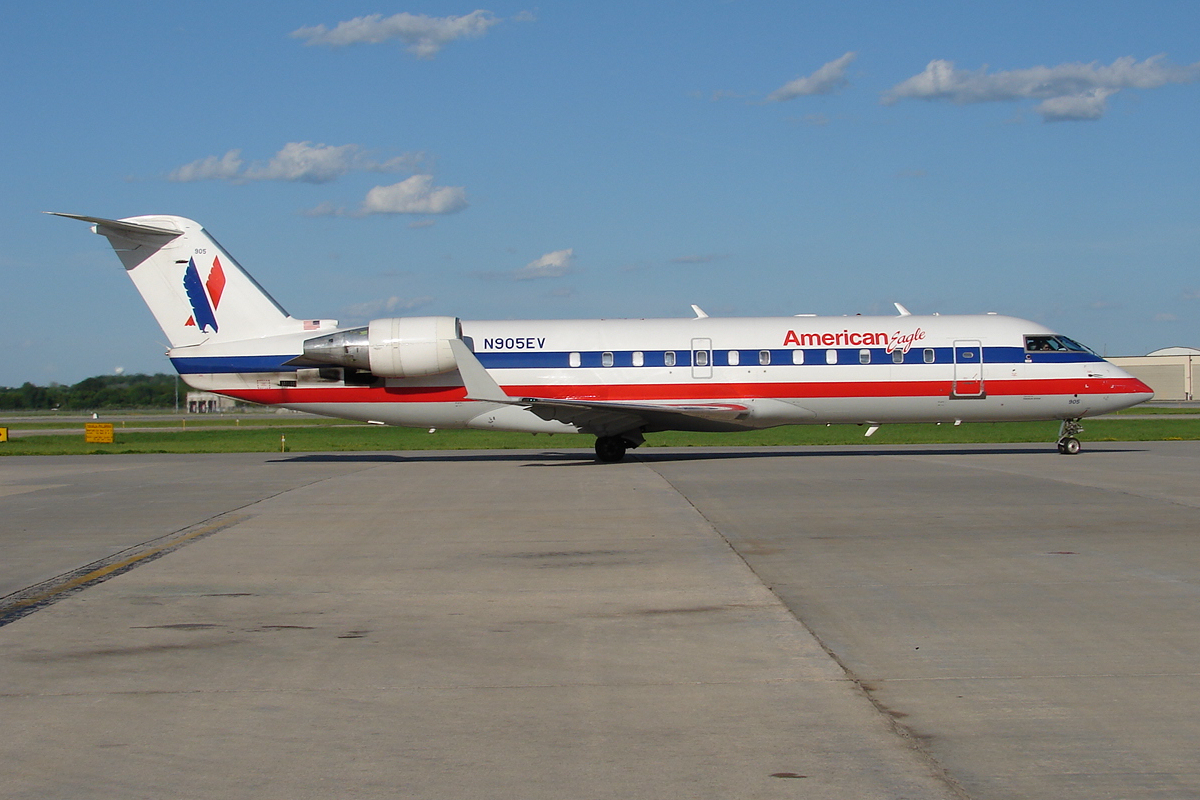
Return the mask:
[[305,44],[329,47],[379,44],[398,38],[416,58],[432,59],[450,42],[458,38],[478,38],[499,22],[492,12],[482,10],[462,17],[428,17],[407,12],[391,17],[368,14],[337,23],[332,29],[325,25],[300,28],[292,31],[292,36],[307,40]]

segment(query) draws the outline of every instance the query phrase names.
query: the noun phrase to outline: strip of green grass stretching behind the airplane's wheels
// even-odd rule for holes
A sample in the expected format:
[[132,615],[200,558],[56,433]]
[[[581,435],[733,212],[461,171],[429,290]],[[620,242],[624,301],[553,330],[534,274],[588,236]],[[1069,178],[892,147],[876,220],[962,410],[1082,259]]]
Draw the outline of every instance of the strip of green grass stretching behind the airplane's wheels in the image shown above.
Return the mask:
[[[2,422],[0,422],[2,425]],[[590,450],[589,435],[558,434],[553,437],[529,433],[499,433],[492,431],[391,428],[331,420],[264,419],[254,425],[266,428],[238,426],[205,427],[192,425],[169,426],[161,432],[128,432],[115,429],[112,445],[85,444],[82,425],[78,437],[31,435],[0,443],[0,455],[59,456],[83,453],[197,453],[197,452],[288,452],[371,451],[371,450],[512,450],[568,449]],[[66,426],[59,426],[66,427]],[[137,423],[137,427],[143,427]],[[1081,439],[1088,441],[1162,441],[1200,439],[1200,420],[1085,420]],[[803,445],[888,445],[888,444],[977,444],[1040,441],[1048,446],[1057,437],[1057,422],[978,422],[953,425],[886,425],[875,435],[865,438],[865,428],[853,425],[788,426],[745,433],[655,433],[648,437],[650,447],[707,446],[803,446]],[[286,443],[281,443],[286,437]]]

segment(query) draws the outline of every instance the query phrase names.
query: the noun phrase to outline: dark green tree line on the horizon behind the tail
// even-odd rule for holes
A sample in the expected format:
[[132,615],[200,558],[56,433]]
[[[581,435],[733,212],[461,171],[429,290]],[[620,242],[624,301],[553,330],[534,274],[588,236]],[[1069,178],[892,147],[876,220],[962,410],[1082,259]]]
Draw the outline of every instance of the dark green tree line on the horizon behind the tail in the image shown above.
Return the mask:
[[[0,410],[94,411],[113,408],[174,408],[175,375],[97,375],[66,386],[36,386],[25,383],[16,389],[0,387]],[[187,386],[179,386],[182,402]]]

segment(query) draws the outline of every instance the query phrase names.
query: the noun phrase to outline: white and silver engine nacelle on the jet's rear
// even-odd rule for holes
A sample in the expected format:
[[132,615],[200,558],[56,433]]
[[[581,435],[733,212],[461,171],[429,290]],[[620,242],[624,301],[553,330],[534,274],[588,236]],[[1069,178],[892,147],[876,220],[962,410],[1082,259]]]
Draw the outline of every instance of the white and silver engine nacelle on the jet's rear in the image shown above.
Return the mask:
[[450,339],[462,337],[455,317],[394,317],[304,343],[305,359],[366,369],[380,378],[439,375],[457,367]]

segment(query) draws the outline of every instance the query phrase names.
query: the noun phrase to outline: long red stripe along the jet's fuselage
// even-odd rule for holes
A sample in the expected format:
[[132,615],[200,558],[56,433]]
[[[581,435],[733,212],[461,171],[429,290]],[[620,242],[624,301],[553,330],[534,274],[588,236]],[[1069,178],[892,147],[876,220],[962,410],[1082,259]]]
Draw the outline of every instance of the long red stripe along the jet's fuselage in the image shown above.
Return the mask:
[[[510,397],[636,403],[647,401],[709,401],[779,397],[788,399],[838,397],[949,397],[949,380],[821,381],[763,384],[619,384],[612,386],[503,386]],[[1061,378],[989,380],[986,393],[1046,397],[1061,395],[1142,395],[1152,390],[1136,378]],[[467,399],[462,386],[313,386],[216,390],[222,395],[268,405],[293,403],[455,403]]]

